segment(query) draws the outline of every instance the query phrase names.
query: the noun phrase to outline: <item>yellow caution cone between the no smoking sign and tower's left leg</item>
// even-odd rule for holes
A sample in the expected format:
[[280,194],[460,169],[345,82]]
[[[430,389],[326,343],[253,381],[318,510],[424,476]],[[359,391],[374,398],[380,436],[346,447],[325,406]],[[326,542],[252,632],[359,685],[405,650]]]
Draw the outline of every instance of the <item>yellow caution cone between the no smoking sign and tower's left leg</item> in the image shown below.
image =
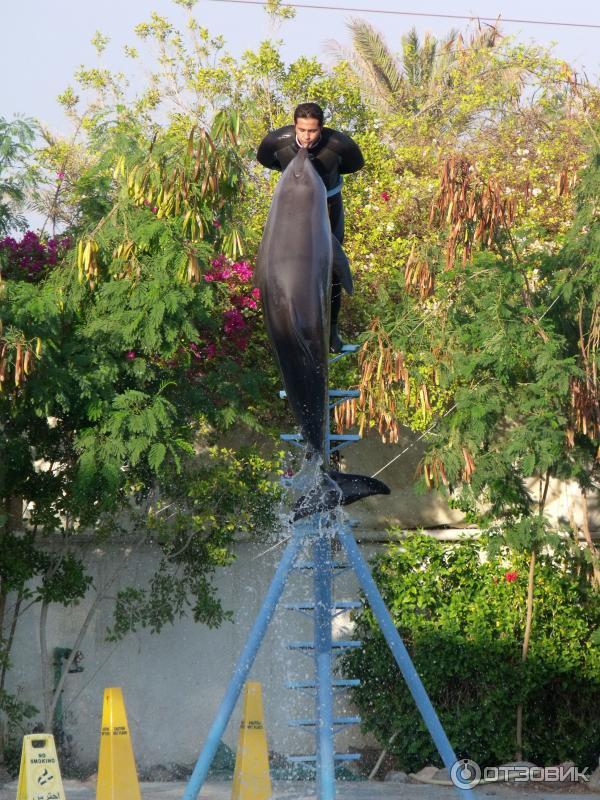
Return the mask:
[[104,690],[96,800],[141,800],[123,692]]

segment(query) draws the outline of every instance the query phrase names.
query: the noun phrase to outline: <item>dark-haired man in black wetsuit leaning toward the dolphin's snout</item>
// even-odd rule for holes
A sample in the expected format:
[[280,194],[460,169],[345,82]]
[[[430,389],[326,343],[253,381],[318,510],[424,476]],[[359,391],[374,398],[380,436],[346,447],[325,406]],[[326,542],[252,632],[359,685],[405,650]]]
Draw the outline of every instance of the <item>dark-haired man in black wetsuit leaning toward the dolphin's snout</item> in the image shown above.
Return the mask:
[[[270,131],[260,143],[258,161],[280,172],[287,167],[301,147],[308,148],[311,161],[327,189],[327,208],[331,231],[344,243],[344,205],[342,175],[357,172],[365,160],[359,146],[345,133],[323,127],[323,109],[317,103],[300,103],[294,111],[294,124]],[[338,316],[342,304],[342,286],[335,270],[331,283],[330,349],[339,353],[342,340]]]

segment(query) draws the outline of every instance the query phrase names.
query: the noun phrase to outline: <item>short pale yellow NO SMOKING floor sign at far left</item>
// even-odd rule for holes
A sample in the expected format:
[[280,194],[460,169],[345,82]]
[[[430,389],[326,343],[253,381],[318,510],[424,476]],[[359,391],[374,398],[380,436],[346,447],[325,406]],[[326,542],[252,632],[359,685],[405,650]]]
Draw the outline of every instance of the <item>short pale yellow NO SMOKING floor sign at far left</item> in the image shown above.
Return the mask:
[[23,737],[17,800],[65,800],[54,736],[49,733]]

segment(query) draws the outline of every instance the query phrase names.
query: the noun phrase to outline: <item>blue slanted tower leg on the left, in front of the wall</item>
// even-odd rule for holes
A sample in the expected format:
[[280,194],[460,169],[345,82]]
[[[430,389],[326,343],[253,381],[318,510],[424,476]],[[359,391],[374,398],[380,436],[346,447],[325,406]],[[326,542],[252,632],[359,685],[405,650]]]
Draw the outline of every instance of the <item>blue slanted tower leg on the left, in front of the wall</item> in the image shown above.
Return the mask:
[[292,540],[285,549],[281,561],[279,562],[279,566],[277,567],[275,575],[273,576],[273,580],[271,581],[271,585],[269,586],[269,591],[267,592],[258,616],[254,622],[254,625],[252,626],[246,646],[244,647],[235,670],[233,671],[233,675],[229,681],[229,686],[225,692],[225,697],[223,698],[219,710],[217,711],[217,715],[213,721],[210,731],[208,732],[208,736],[206,737],[206,742],[204,743],[202,752],[198,757],[194,771],[192,772],[188,785],[186,786],[183,800],[196,800],[200,789],[206,780],[208,770],[210,769],[212,760],[217,752],[223,732],[227,727],[227,723],[229,722],[229,718],[231,717],[237,699],[242,691],[244,683],[246,682],[246,678],[248,677],[250,668],[252,667],[254,659],[256,658],[256,653],[258,652],[258,648],[260,647],[260,644],[264,638],[269,622],[275,613],[275,607],[279,601],[279,598],[281,597],[285,587],[286,578],[294,565],[294,560],[298,554],[300,546],[302,545],[303,539],[304,530],[302,526],[296,526],[294,528]]

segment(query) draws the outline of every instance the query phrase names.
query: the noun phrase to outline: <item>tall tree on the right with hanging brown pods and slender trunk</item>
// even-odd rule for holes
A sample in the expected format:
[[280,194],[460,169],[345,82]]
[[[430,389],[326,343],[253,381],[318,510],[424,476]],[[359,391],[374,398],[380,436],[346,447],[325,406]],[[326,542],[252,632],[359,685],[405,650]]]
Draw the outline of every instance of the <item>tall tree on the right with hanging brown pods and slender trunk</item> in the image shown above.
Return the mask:
[[[459,53],[457,63],[474,70],[471,79],[481,70],[482,52]],[[587,492],[598,491],[598,276],[593,249],[581,252],[590,245],[580,236],[581,221],[569,233],[578,207],[587,206],[578,220],[587,219],[592,231],[595,226],[597,194],[589,177],[597,169],[595,156],[583,171],[582,188],[571,195],[590,150],[594,92],[582,109],[582,90],[564,65],[506,46],[484,55],[490,72],[511,64],[492,101],[487,91],[480,94],[489,74],[481,84],[472,81],[469,91],[454,71],[440,98],[439,107],[447,109],[443,124],[432,114],[417,123],[439,131],[434,141],[443,144],[439,178],[429,184],[436,193],[428,203],[428,227],[417,215],[423,227],[412,228],[404,280],[392,270],[377,290],[358,414],[363,429],[377,426],[391,441],[403,423],[431,429],[424,483],[445,487],[451,503],[487,530],[490,546],[506,544],[527,555],[525,663],[535,630],[536,561],[558,541],[545,516],[552,479],[579,483],[588,572],[596,584],[600,579],[587,515]],[[540,97],[523,113],[533,76]],[[401,124],[414,131],[413,122],[398,115],[390,135],[402,142]],[[381,193],[379,204],[391,196]],[[387,225],[393,230],[393,222]],[[587,236],[589,228],[583,230]],[[403,237],[396,241],[407,244]],[[577,261],[568,256],[573,241]],[[563,248],[565,242],[571,244]],[[568,288],[573,281],[577,299]],[[341,416],[343,424],[354,410]],[[519,704],[517,758],[527,718]]]

